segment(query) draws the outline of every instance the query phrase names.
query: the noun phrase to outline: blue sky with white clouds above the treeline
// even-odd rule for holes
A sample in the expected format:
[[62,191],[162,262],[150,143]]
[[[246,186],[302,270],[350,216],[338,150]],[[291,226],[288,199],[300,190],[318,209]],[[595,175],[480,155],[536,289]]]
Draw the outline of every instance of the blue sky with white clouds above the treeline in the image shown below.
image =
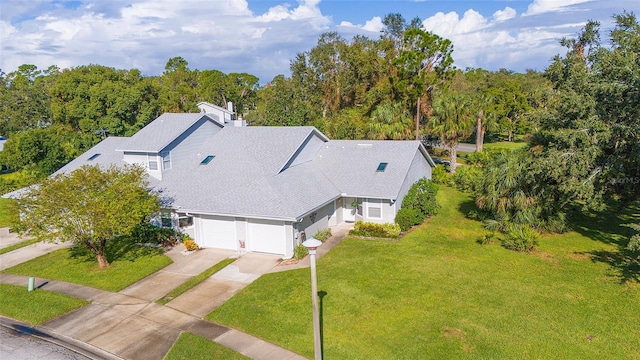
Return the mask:
[[[606,40],[613,15],[638,0],[0,0],[0,69],[98,64],[160,75],[172,57],[190,69],[291,75],[296,54],[326,32],[380,37],[399,13],[453,43],[460,69],[544,71],[563,37],[588,20]],[[606,43],[606,41],[604,41]]]

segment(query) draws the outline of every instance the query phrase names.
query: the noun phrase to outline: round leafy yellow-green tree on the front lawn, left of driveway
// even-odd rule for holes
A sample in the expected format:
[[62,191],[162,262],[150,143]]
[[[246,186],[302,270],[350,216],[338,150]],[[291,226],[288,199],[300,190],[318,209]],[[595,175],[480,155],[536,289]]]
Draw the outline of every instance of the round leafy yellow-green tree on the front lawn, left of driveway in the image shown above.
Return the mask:
[[106,268],[107,242],[149,220],[160,200],[149,192],[142,167],[83,166],[32,187],[19,206],[21,232],[72,241]]

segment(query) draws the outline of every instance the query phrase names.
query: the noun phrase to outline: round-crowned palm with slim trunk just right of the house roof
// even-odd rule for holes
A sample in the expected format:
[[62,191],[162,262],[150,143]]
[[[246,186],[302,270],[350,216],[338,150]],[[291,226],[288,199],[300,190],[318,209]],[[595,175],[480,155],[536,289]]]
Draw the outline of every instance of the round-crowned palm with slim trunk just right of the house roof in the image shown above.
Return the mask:
[[474,113],[467,97],[456,93],[443,93],[433,102],[433,115],[429,118],[431,132],[440,137],[449,150],[449,171],[456,171],[457,149],[460,139],[473,131]]

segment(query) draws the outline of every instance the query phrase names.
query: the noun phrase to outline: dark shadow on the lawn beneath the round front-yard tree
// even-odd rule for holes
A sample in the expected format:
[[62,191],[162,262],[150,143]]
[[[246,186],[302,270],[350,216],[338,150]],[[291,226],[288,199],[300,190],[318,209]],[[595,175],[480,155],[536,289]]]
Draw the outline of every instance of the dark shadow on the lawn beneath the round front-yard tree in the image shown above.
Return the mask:
[[[96,256],[82,246],[71,247],[70,256],[83,262],[95,262]],[[164,249],[137,244],[129,236],[120,236],[107,241],[107,261],[135,261],[141,257],[154,256],[164,252]]]

